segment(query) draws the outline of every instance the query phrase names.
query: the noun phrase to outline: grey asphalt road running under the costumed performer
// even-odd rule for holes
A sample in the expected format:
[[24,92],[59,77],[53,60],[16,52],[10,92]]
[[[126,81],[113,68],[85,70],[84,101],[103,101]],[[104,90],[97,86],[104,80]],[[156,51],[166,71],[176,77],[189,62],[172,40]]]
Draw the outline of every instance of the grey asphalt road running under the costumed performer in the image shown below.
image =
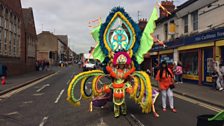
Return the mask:
[[56,75],[1,100],[0,126],[195,126],[198,115],[216,113],[178,98],[175,98],[177,113],[169,109],[162,112],[160,97],[156,103],[159,118],[152,113],[142,114],[131,100],[127,100],[127,116],[114,118],[111,103],[89,112],[88,100],[82,101],[80,107],[66,101],[67,83],[80,71],[76,65],[62,68]]

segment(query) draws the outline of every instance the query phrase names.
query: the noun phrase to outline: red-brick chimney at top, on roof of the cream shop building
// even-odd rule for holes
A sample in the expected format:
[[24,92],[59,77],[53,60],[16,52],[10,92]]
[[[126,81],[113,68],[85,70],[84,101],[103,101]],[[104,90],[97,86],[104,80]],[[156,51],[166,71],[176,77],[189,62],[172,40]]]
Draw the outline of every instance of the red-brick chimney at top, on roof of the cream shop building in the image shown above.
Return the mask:
[[[170,13],[172,13],[175,10],[175,5],[173,3],[173,1],[161,1],[161,5],[167,9],[167,11],[169,11]],[[160,7],[160,17],[165,17],[167,16],[167,13]]]

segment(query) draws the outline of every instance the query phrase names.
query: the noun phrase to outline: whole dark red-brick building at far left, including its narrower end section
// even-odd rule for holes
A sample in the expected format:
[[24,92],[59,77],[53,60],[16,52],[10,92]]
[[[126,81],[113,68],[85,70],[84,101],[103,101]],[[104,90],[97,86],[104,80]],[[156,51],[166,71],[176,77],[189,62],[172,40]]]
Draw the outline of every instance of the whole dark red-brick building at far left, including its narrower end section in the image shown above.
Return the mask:
[[32,9],[23,11],[20,0],[0,0],[0,64],[8,75],[34,70],[35,35]]

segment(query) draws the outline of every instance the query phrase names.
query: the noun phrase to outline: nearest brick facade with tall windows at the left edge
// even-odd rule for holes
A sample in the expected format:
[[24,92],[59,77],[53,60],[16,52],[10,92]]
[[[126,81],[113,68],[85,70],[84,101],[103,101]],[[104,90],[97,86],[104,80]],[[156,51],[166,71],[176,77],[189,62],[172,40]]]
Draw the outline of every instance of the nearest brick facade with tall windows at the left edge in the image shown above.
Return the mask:
[[[24,23],[20,0],[0,0],[0,64],[7,66],[8,75],[34,69],[27,62]],[[34,21],[32,25],[35,27]]]

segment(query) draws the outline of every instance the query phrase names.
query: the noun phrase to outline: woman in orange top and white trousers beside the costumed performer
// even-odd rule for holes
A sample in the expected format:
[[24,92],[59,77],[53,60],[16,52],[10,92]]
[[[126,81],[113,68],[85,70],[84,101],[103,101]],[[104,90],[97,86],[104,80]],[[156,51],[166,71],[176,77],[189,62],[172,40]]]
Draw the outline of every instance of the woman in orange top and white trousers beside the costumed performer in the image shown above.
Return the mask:
[[168,96],[170,109],[172,112],[176,112],[174,108],[174,98],[173,98],[173,91],[174,83],[173,83],[173,72],[171,69],[168,68],[166,61],[163,61],[160,64],[160,68],[156,75],[156,80],[159,84],[159,89],[162,94],[162,108],[163,112],[166,111],[166,99]]

